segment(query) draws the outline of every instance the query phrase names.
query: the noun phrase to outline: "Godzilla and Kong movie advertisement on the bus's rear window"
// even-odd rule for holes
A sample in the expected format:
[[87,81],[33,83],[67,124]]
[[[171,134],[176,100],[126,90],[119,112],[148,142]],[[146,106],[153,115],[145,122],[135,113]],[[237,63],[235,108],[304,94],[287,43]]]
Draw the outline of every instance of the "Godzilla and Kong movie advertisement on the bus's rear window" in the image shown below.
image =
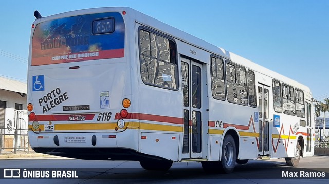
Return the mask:
[[117,12],[71,16],[36,25],[31,65],[124,57],[124,22]]

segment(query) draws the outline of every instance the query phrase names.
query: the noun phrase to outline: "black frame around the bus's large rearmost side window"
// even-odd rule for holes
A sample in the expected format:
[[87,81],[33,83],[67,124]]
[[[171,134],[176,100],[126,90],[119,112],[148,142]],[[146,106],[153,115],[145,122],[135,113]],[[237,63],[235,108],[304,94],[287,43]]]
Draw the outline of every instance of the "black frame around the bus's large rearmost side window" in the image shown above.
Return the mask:
[[[150,34],[153,33],[153,34],[156,34],[158,36],[161,36],[163,38],[166,38],[168,39],[169,41],[173,42],[174,45],[175,45],[175,49],[174,49],[174,52],[175,52],[175,63],[171,63],[171,62],[167,62],[165,60],[162,60],[162,59],[158,59],[158,58],[155,58],[155,57],[152,57],[152,56],[147,56],[147,55],[143,55],[140,53],[140,31],[141,30],[144,30],[144,31],[147,31],[149,32]],[[179,77],[179,67],[178,67],[178,54],[177,54],[177,43],[175,41],[175,39],[169,35],[166,35],[164,33],[161,33],[159,31],[156,31],[156,30],[153,30],[151,28],[148,28],[148,27],[145,27],[145,26],[139,26],[138,30],[137,30],[137,37],[138,37],[138,49],[137,49],[137,54],[138,54],[138,63],[139,63],[139,71],[140,71],[140,78],[142,80],[142,82],[145,84],[145,85],[149,85],[149,86],[154,86],[154,87],[157,87],[157,88],[162,88],[162,89],[168,89],[168,90],[172,90],[172,91],[178,91],[179,88],[180,88],[180,77]],[[151,50],[151,45],[150,45],[150,52],[152,52]],[[170,50],[169,50],[170,52]],[[171,53],[169,53],[171,54]],[[177,68],[177,71],[175,72],[175,79],[173,78],[173,80],[176,80],[176,88],[170,88],[170,87],[165,87],[165,86],[159,86],[159,85],[156,85],[156,84],[153,84],[153,83],[147,83],[143,80],[142,78],[142,67],[141,67],[141,55],[145,56],[145,57],[149,57],[149,58],[153,58],[153,59],[157,59],[157,60],[160,60],[161,62],[165,62],[165,63],[169,63],[169,64],[173,64],[176,68]]]

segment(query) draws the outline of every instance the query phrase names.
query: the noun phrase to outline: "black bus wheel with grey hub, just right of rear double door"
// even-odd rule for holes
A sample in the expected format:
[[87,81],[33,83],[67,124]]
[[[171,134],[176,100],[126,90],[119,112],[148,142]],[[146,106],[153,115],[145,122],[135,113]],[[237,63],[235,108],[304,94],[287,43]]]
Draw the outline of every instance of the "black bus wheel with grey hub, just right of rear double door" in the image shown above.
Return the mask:
[[221,165],[225,173],[231,173],[234,170],[236,162],[235,141],[231,135],[226,135],[223,141]]

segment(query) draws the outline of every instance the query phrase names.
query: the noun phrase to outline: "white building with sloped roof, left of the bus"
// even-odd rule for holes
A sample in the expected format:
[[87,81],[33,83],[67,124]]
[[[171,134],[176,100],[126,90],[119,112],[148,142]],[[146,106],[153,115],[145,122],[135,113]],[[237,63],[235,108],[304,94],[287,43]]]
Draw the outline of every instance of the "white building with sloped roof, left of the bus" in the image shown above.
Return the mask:
[[[26,94],[26,83],[0,77],[0,130],[4,135],[2,147],[13,147],[13,135],[27,132],[22,130],[27,129],[28,124]],[[17,141],[17,146],[23,143]]]

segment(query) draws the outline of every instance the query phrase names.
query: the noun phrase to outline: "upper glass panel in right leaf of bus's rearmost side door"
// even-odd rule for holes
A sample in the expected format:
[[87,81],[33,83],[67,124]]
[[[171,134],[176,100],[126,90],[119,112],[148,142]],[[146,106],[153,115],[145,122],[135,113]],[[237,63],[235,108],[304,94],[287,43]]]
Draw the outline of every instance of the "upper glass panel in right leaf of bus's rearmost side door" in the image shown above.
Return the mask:
[[192,65],[192,107],[201,108],[201,68]]

